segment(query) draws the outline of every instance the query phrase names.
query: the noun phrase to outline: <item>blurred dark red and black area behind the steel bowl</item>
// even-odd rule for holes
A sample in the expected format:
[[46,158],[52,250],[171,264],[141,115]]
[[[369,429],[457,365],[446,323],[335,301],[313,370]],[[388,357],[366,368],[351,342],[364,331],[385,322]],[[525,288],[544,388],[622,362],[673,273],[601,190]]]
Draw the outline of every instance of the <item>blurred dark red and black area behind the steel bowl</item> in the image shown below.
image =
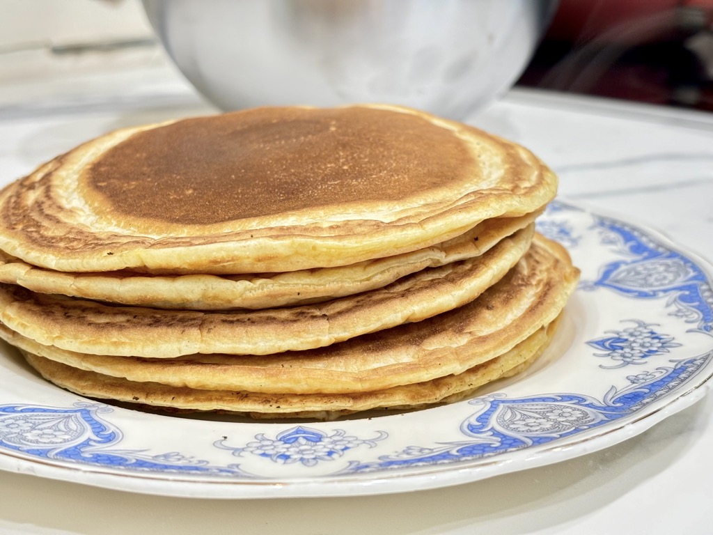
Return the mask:
[[518,84],[713,111],[713,0],[562,0]]

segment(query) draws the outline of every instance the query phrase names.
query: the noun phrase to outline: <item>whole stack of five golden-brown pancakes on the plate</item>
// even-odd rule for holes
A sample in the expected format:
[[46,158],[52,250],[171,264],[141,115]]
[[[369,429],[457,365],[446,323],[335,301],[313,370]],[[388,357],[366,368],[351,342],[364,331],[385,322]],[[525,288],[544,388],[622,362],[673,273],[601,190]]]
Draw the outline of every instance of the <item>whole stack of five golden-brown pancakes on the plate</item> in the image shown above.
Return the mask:
[[46,379],[167,410],[332,419],[524,370],[578,279],[555,175],[395,106],[127,128],[0,193],[0,337]]

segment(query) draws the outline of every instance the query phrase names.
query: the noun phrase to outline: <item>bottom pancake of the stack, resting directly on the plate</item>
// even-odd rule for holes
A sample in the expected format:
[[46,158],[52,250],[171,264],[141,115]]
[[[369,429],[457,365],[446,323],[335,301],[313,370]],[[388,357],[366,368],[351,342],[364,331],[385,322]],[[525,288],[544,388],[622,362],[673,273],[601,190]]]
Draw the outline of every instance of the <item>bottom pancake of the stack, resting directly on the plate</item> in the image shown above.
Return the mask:
[[334,419],[368,409],[414,409],[456,402],[500,377],[522,372],[549,344],[554,328],[541,327],[511,350],[458,375],[355,394],[260,394],[170,387],[78,370],[22,350],[27,362],[49,381],[87,397],[189,411],[218,411],[251,417]]

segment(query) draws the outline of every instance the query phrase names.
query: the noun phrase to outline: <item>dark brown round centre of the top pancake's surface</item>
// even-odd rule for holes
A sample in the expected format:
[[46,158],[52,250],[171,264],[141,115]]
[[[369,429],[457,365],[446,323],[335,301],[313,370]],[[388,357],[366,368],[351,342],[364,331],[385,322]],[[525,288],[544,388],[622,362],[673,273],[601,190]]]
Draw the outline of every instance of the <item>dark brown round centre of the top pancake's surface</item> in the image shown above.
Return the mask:
[[257,108],[136,133],[93,163],[80,189],[131,217],[210,225],[398,201],[475,164],[461,138],[409,113]]

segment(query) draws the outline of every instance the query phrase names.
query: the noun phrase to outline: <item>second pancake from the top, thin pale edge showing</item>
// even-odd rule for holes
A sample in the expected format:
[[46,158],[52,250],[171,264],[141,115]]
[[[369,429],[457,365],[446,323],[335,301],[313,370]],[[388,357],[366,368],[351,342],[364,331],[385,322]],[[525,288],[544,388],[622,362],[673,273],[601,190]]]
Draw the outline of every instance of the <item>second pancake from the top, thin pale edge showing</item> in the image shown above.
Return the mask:
[[264,275],[140,275],[69,273],[35,267],[0,251],[0,282],[57,293],[158,308],[228,310],[321,302],[384,287],[401,277],[482,255],[502,238],[530,225],[538,213],[483,221],[467,233],[411,253],[313,270]]

